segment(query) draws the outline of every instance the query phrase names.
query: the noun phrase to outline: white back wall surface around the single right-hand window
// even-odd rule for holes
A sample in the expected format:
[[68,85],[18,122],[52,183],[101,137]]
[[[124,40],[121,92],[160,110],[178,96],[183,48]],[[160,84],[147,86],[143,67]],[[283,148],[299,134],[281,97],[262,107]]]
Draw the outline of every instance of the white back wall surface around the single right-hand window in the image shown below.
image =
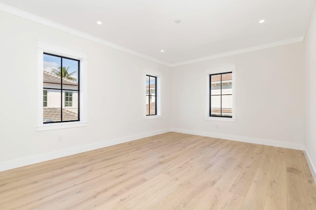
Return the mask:
[[[173,67],[172,130],[303,149],[302,42]],[[236,65],[236,122],[204,119],[205,70]]]

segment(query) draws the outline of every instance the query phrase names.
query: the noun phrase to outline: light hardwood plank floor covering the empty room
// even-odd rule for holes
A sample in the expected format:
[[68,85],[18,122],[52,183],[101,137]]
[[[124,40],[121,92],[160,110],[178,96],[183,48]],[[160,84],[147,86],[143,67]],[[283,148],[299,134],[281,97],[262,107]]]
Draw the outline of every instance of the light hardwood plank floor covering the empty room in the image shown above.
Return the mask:
[[300,150],[169,132],[0,172],[0,210],[316,210]]

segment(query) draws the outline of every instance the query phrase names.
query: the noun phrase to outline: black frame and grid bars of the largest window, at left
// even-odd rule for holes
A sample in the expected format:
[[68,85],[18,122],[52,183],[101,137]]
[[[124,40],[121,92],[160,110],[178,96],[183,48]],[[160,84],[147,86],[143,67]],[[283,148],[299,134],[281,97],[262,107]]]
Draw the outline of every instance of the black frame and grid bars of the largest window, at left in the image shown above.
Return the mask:
[[[43,55],[48,55],[48,56],[54,56],[60,58],[60,65],[61,69],[63,67],[63,59],[68,59],[68,60],[76,60],[78,61],[78,90],[70,90],[70,89],[63,89],[63,77],[60,77],[60,89],[57,88],[43,88],[43,90],[60,90],[60,121],[43,121],[43,124],[47,123],[61,123],[61,122],[74,122],[74,121],[80,121],[80,60],[78,59],[72,59],[64,56],[59,56],[51,53],[43,53]],[[67,90],[69,91],[78,91],[78,120],[65,120],[63,121],[63,91],[66,92]],[[48,92],[48,91],[47,91]]]

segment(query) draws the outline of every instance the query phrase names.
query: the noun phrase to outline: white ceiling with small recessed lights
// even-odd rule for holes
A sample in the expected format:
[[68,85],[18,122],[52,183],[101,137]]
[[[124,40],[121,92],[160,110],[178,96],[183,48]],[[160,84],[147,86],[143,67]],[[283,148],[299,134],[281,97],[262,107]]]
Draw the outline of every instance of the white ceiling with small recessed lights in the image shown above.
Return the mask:
[[314,4],[314,0],[0,2],[168,64],[304,37]]

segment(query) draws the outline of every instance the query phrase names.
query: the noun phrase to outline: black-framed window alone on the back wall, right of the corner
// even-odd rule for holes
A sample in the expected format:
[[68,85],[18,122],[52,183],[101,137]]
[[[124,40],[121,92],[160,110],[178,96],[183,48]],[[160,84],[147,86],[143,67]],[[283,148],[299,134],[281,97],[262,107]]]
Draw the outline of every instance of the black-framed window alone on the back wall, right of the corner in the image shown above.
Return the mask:
[[209,116],[233,117],[233,72],[209,75]]

